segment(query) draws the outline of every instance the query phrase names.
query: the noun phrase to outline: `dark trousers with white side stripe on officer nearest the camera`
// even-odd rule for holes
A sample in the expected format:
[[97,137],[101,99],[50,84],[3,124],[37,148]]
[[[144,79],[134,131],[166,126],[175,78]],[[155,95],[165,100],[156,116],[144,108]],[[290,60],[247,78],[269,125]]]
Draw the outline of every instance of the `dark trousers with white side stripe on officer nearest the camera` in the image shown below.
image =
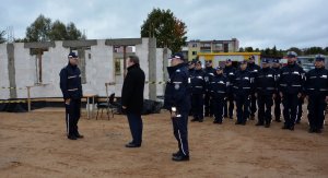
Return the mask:
[[188,112],[180,112],[172,117],[173,133],[178,142],[179,154],[189,155],[188,145]]

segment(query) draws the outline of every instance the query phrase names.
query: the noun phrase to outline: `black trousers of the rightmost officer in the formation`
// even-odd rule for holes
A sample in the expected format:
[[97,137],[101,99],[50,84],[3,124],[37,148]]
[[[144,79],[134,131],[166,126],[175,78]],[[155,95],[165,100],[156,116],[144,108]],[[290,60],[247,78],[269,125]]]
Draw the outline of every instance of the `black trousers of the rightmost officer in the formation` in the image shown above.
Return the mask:
[[309,95],[308,96],[308,122],[312,129],[321,129],[325,120],[326,109],[325,96]]

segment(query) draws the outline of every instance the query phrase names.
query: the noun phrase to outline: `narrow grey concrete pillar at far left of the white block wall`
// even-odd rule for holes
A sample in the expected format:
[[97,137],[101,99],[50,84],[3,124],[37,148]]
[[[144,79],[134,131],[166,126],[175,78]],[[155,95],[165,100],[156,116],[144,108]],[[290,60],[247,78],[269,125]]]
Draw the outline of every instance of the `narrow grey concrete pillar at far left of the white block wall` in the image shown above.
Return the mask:
[[8,76],[9,76],[9,86],[10,88],[10,98],[17,97],[16,91],[16,78],[15,78],[15,58],[14,58],[14,45],[7,45],[7,56],[8,56]]

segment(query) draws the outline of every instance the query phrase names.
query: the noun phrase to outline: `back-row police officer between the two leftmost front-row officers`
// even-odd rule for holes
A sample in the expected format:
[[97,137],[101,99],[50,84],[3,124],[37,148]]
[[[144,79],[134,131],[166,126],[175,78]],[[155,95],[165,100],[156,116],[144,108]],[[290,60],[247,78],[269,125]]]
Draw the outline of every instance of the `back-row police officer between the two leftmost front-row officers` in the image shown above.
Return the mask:
[[208,60],[206,61],[206,83],[207,83],[207,88],[206,88],[206,96],[204,96],[204,116],[206,117],[212,117],[213,116],[213,100],[211,99],[211,94],[209,91],[209,85],[212,81],[212,78],[214,76],[215,69],[212,67],[212,61]]

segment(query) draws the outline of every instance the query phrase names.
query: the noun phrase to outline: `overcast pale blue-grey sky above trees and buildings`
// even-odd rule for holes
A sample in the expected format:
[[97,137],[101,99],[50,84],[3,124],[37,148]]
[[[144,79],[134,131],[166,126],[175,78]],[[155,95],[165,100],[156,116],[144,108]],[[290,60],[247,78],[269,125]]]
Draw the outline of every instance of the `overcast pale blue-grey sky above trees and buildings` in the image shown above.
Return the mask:
[[171,9],[190,39],[239,40],[241,47],[328,46],[327,0],[1,0],[0,29],[25,37],[34,20],[73,22],[87,38],[140,37],[153,8]]

